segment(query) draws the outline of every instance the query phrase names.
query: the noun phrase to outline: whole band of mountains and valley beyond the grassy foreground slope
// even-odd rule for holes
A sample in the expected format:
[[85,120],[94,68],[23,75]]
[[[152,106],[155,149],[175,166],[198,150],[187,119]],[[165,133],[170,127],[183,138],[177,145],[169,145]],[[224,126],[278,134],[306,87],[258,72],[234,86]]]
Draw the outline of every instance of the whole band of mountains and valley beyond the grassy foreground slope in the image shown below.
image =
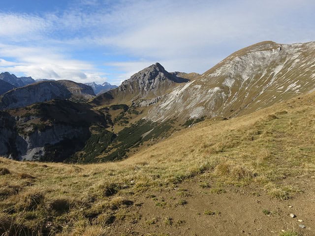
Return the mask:
[[[315,91],[314,65],[315,42],[265,41],[201,75],[155,63],[97,96],[95,83],[13,89],[0,97],[0,155],[81,163],[126,158],[206,118],[234,118]],[[49,102],[56,98],[62,100]]]

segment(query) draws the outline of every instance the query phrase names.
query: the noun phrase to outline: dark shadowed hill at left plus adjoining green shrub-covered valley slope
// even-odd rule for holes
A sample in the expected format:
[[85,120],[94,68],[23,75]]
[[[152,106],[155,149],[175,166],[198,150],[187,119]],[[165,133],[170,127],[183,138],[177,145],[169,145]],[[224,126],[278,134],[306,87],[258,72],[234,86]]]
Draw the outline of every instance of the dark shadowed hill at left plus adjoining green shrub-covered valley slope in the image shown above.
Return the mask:
[[[113,161],[175,130],[172,122],[159,124],[139,117],[125,104],[95,110],[69,100],[0,111],[0,155],[15,160]],[[128,120],[133,123],[128,125]]]

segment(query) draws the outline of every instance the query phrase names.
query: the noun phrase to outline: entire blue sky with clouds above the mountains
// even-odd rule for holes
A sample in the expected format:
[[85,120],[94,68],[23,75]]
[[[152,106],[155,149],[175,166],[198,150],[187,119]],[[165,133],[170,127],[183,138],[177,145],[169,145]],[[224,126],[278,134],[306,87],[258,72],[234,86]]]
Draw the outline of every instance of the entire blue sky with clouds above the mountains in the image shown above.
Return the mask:
[[315,41],[314,0],[0,0],[0,72],[119,85],[203,73],[254,43]]

